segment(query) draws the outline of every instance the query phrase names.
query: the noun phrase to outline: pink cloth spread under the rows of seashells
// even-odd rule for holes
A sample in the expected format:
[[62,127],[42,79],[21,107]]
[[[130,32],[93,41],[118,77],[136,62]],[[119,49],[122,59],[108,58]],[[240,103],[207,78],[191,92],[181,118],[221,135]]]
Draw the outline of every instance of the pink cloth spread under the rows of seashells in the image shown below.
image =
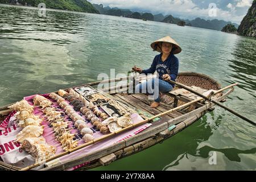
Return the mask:
[[[28,97],[24,97],[24,100],[27,100],[28,103],[30,105],[33,105],[33,101],[32,101],[32,98],[34,98],[35,95],[33,96],[28,96]],[[52,106],[55,107],[55,109],[57,110],[60,110],[60,111],[63,111],[63,109],[61,109],[59,107],[59,105],[57,105],[56,101],[52,100],[51,98],[49,98],[49,94],[42,94],[41,96],[44,96],[46,97],[48,100],[52,101]],[[69,101],[65,101],[67,103],[69,103]],[[80,114],[80,112],[77,112],[78,114]],[[9,125],[9,121],[10,121],[10,118],[13,117],[15,114],[15,112],[12,112],[10,113],[10,115],[5,119],[5,121],[3,121],[0,125],[0,130],[3,129],[5,130]],[[52,127],[50,127],[49,123],[47,122],[47,118],[45,117],[45,115],[43,114],[43,111],[42,109],[40,109],[39,106],[35,106],[35,109],[34,109],[34,114],[35,115],[39,115],[40,118],[43,118],[43,122],[42,122],[42,125],[44,126],[44,133],[43,133],[43,137],[46,139],[46,142],[51,145],[51,146],[55,146],[57,148],[56,150],[56,154],[60,154],[62,152],[64,152],[64,150],[61,148],[61,144],[59,141],[55,140],[55,136],[54,136],[54,132],[53,132],[53,129]],[[85,119],[85,116],[82,115],[82,117]],[[131,119],[133,121],[133,123],[137,123],[139,121],[142,121],[143,118],[141,118],[140,115],[138,115],[137,113],[134,113],[131,115]],[[79,140],[79,146],[81,144],[84,144],[84,140],[82,140],[82,135],[80,134],[79,130],[77,130],[73,124],[74,122],[68,117],[68,115],[65,115],[65,121],[68,121],[69,122],[69,125],[68,127],[71,130],[71,133],[72,134],[75,134],[75,137],[77,140]],[[93,137],[95,139],[97,138],[100,138],[102,137],[104,134],[100,133],[100,131],[96,130],[92,123],[90,123],[89,121],[86,121],[86,125],[88,125],[92,130],[93,130]],[[103,140],[102,142],[98,142],[98,143],[95,143],[95,144],[92,144],[90,146],[87,146],[87,147],[84,147],[84,148],[81,148],[80,150],[77,150],[75,152],[72,152],[71,154],[69,155],[65,155],[61,158],[59,158],[59,160],[61,162],[65,162],[66,160],[69,160],[69,159],[73,159],[73,158],[76,158],[78,156],[81,156],[81,155],[86,155],[88,154],[89,152],[91,151],[96,151],[96,150],[99,150],[100,148],[102,147],[106,147],[106,146],[109,146],[110,144],[113,144],[115,142],[119,142],[123,139],[126,139],[126,138],[130,138],[132,137],[133,135],[136,135],[138,134],[139,132],[143,131],[144,129],[146,129],[147,127],[151,126],[151,124],[149,123],[146,123],[144,125],[141,125],[141,126],[138,126],[134,129],[131,129],[129,131],[125,131],[124,133],[121,133],[121,134],[118,134],[118,135],[114,135],[113,137],[111,138],[108,138],[108,139],[105,139]],[[18,126],[17,126],[18,128]],[[21,130],[21,129],[18,129],[18,130]],[[0,136],[1,137],[1,136]],[[1,143],[0,143],[1,144]],[[74,169],[77,169],[77,168],[80,168],[82,166],[85,166],[86,164],[88,164],[90,162],[86,162],[86,163],[83,163],[83,164],[80,164],[79,166],[75,166],[73,168],[70,168],[68,170],[74,170]],[[22,166],[23,167],[23,166]]]

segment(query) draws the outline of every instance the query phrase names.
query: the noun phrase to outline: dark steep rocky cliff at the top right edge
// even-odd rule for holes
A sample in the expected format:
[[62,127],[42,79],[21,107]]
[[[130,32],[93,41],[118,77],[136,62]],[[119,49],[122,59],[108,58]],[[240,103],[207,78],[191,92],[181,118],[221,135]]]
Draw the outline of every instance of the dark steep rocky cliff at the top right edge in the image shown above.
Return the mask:
[[256,37],[256,0],[238,27],[238,35]]

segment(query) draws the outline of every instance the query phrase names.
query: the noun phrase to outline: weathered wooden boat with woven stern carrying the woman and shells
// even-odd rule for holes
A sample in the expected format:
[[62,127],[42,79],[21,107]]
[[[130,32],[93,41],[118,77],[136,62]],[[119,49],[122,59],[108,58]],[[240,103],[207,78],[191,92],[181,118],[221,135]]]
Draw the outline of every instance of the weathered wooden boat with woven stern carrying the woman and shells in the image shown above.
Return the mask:
[[[139,81],[142,82],[149,78],[150,77],[139,77]],[[121,78],[116,78],[114,80],[108,80],[108,82],[117,83],[120,80]],[[177,82],[187,85],[204,95],[209,95],[210,91],[215,90],[216,92],[216,90],[219,90],[219,92],[216,92],[216,95],[212,96],[215,101],[225,101],[226,96],[234,90],[232,85],[221,89],[220,83],[209,76],[193,72],[179,73],[177,76]],[[96,86],[99,83],[100,81],[97,81],[85,85]],[[85,170],[101,165],[106,166],[115,160],[136,154],[139,151],[163,142],[163,140],[172,137],[176,133],[196,122],[205,113],[214,109],[214,104],[212,102],[193,102],[199,100],[199,97],[177,86],[175,86],[174,90],[165,95],[165,97],[168,98],[166,103],[161,103],[159,107],[152,109],[146,94],[124,94],[123,92],[127,90],[126,86],[127,85],[119,85],[108,88],[108,96],[136,109],[143,119],[165,113],[170,109],[173,109],[173,111],[163,115],[158,121],[151,122],[152,125],[150,127],[133,137],[123,139],[121,142],[113,143],[110,146],[69,159],[65,162],[55,162],[51,165],[44,165],[41,170],[65,170],[75,166],[75,168]],[[113,88],[114,92],[111,91]],[[225,89],[229,89],[228,92],[224,93],[223,91]],[[191,102],[193,103],[189,104]],[[188,105],[184,106],[186,103]],[[8,106],[10,105],[0,107],[0,123],[11,112],[11,110],[8,109]],[[4,163],[2,159],[0,160],[0,168],[5,170],[21,169],[20,167]]]

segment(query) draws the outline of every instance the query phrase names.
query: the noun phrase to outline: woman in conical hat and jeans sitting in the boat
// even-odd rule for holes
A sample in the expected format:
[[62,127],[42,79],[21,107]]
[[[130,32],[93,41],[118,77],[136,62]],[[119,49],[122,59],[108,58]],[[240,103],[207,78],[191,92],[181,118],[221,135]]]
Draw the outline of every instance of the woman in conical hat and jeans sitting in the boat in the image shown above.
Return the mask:
[[142,82],[135,87],[136,93],[148,93],[154,96],[154,102],[152,102],[151,107],[155,108],[160,105],[159,92],[170,92],[174,88],[174,84],[170,84],[167,80],[175,81],[177,77],[179,60],[174,55],[180,53],[181,48],[170,36],[156,40],[151,44],[151,47],[154,51],[160,52],[159,55],[155,56],[151,67],[149,69],[133,67],[132,69],[146,75],[157,71],[156,78]]

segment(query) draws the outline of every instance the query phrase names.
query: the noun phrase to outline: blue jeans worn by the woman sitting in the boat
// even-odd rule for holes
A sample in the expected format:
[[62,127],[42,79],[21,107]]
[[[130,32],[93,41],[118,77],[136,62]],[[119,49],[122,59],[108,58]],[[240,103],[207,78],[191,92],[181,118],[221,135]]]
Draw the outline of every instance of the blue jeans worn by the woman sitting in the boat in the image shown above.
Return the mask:
[[159,92],[165,93],[171,90],[171,84],[158,78],[152,78],[135,86],[135,93],[148,93],[154,98],[155,102],[160,102]]

